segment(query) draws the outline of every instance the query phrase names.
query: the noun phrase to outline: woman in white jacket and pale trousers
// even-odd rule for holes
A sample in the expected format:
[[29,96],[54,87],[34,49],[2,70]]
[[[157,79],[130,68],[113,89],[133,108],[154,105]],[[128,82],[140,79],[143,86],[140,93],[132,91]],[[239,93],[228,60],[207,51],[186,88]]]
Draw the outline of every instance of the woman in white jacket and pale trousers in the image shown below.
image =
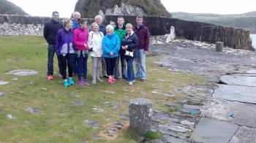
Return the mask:
[[99,26],[97,23],[92,23],[92,31],[89,33],[88,46],[92,58],[92,83],[103,82],[99,78],[99,73],[102,66],[102,39],[104,34],[99,31]]

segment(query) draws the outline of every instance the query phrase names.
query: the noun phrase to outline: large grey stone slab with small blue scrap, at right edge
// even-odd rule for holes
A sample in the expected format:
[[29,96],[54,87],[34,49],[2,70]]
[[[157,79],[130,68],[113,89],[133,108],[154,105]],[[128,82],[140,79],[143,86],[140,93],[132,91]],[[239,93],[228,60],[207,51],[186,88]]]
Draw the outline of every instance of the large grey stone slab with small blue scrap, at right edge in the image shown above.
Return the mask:
[[[229,117],[230,113],[235,113],[235,117]],[[241,126],[256,128],[256,105],[246,104],[236,101],[222,101],[211,99],[201,109],[203,117],[210,117],[217,120],[224,120],[236,123]]]

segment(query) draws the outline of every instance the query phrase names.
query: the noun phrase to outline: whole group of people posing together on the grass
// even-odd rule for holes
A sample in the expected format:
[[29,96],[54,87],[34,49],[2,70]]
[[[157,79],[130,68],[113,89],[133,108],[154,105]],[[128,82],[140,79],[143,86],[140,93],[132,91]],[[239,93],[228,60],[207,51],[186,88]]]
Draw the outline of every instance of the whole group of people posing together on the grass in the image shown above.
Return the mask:
[[[105,26],[102,17],[97,15],[91,28],[86,20],[74,12],[72,19],[59,21],[59,12],[53,12],[52,20],[45,24],[43,35],[48,42],[48,80],[53,80],[53,56],[59,62],[59,74],[64,87],[74,85],[73,73],[78,75],[79,85],[88,85],[87,60],[92,59],[92,83],[103,82],[100,77],[108,78],[113,84],[119,78],[119,59],[121,77],[129,85],[138,80],[146,81],[146,51],[149,47],[149,31],[143,25],[143,17],[136,18],[136,26],[127,23],[119,16],[118,25]],[[89,31],[91,29],[91,31]],[[137,73],[133,70],[135,60]],[[68,68],[68,77],[67,77]]]

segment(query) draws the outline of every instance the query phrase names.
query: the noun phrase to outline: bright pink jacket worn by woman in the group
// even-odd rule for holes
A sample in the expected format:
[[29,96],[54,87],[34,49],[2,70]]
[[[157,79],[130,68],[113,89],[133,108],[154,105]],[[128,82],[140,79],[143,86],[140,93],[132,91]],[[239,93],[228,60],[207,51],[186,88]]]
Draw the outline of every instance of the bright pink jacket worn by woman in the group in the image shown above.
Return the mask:
[[[76,28],[73,33],[73,40],[74,40],[74,45],[76,50],[88,50],[88,29],[85,28]],[[84,44],[87,46],[84,47]]]

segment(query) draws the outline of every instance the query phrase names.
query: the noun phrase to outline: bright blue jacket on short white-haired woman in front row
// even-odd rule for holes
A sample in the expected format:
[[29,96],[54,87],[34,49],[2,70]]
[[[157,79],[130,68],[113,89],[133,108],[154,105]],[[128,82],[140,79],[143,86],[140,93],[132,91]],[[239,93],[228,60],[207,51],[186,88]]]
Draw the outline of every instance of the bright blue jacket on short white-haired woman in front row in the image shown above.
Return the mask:
[[[103,57],[105,58],[115,58],[118,57],[118,52],[120,50],[120,39],[116,34],[106,35],[102,39],[103,47]],[[113,55],[109,55],[112,52]]]

